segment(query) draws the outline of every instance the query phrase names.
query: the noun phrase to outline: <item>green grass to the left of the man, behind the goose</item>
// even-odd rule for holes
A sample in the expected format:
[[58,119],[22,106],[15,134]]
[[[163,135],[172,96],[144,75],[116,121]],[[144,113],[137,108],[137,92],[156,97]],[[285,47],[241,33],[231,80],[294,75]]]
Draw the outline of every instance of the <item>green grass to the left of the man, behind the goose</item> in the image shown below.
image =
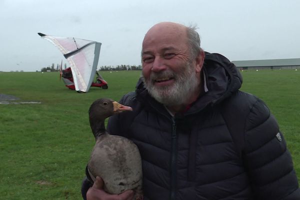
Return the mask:
[[87,110],[133,91],[140,71],[101,72],[108,89],[67,89],[58,72],[2,72],[0,93],[41,104],[0,104],[0,199],[81,199],[94,138]]

